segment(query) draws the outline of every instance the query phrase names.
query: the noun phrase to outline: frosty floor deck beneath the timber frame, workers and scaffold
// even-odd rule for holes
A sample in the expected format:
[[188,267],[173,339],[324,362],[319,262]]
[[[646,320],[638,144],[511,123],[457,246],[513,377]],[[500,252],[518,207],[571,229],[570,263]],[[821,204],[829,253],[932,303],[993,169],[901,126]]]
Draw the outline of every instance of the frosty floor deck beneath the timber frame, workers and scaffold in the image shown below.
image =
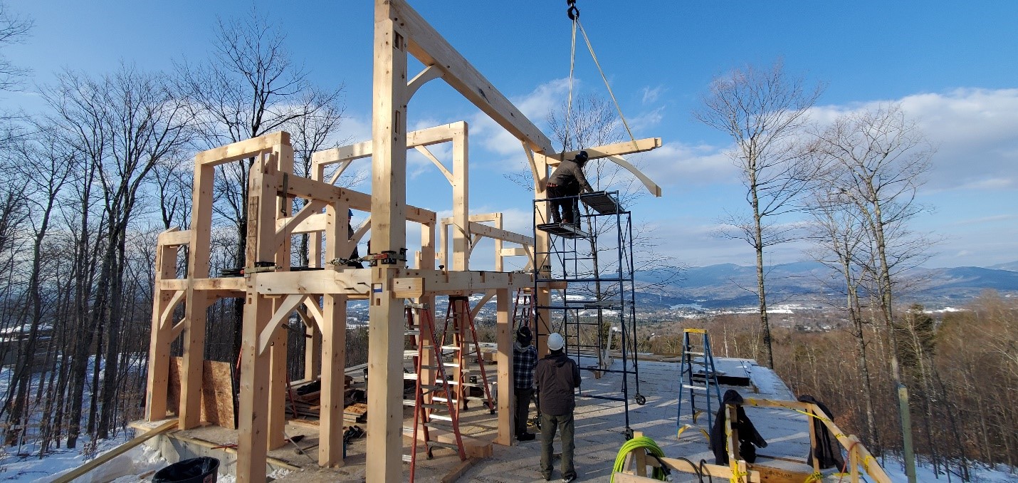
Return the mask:
[[[725,361],[726,367],[745,368],[752,381],[752,386],[749,387],[722,385],[722,393],[733,388],[744,397],[794,399],[785,384],[769,369],[760,368],[752,361],[723,360],[721,358],[717,358],[717,360]],[[586,361],[583,362],[586,363]],[[685,458],[694,463],[698,463],[700,460],[714,463],[714,454],[711,452],[703,434],[699,431],[687,429],[682,433],[681,439],[676,438],[679,368],[680,365],[676,362],[640,361],[640,393],[646,397],[646,405],[637,406],[630,403],[630,427],[634,431],[641,431],[643,435],[653,438],[667,457]],[[621,361],[616,360],[613,369],[621,369]],[[582,371],[582,376],[584,393],[603,395],[619,395],[621,393],[621,374],[608,373],[601,379],[595,379],[592,373]],[[629,390],[629,396],[632,399],[636,394],[632,380],[630,380]],[[754,392],[754,390],[758,392]],[[622,404],[590,397],[577,397],[576,404],[576,452],[574,461],[578,473],[577,481],[608,481],[616,454],[624,442],[625,420]],[[804,473],[811,472],[804,463],[809,451],[809,433],[804,415],[777,409],[745,407],[745,410],[749,419],[769,443],[768,447],[758,449],[758,454],[782,459],[760,458],[756,462],[757,465],[762,464]],[[531,406],[531,416],[533,411]],[[404,426],[410,426],[409,417],[411,415],[412,413],[408,410],[404,412]],[[369,412],[369,418],[371,416]],[[684,417],[683,423],[688,422],[688,416]],[[495,437],[497,421],[488,413],[487,409],[471,406],[470,411],[464,414],[462,421],[464,434],[487,440]],[[700,416],[697,423],[700,428],[710,432],[710,428],[706,427],[705,415]],[[363,424],[359,424],[359,426],[365,427]],[[536,428],[530,428],[530,430],[535,432]],[[304,438],[298,443],[301,447],[318,442],[318,431],[314,427],[289,424],[286,431],[290,436],[304,435]],[[218,444],[236,442],[236,431],[219,427],[195,428],[177,432],[176,435]],[[409,437],[403,438],[404,453],[407,453],[409,442]],[[555,448],[558,452],[558,442],[555,443]],[[347,446],[345,466],[337,469],[321,469],[318,468],[317,464],[313,465],[313,461],[318,461],[317,446],[306,449],[310,460],[297,453],[292,444],[270,451],[269,457],[302,469],[278,478],[276,481],[280,483],[360,482],[364,481],[364,452],[366,450],[365,438],[353,440]],[[491,457],[478,460],[463,473],[458,481],[542,481],[538,471],[540,461],[540,435],[538,439],[514,443],[513,446],[496,444]],[[436,448],[434,460],[425,459],[423,452],[420,452],[417,460],[416,479],[421,482],[440,481],[460,464],[459,458],[451,450]],[[409,465],[404,463],[403,469],[405,479],[408,476]],[[676,482],[696,481],[693,475],[673,473],[672,476],[673,481]],[[556,461],[554,479],[559,478],[561,475],[558,461]],[[836,481],[836,479],[832,481]]]

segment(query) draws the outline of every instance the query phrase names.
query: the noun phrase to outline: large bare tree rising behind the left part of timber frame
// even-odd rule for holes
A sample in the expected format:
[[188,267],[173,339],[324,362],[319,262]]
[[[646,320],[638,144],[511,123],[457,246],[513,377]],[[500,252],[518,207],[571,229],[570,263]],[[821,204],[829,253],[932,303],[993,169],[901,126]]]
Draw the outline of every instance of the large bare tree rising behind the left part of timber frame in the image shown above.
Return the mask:
[[[213,58],[205,65],[178,65],[180,84],[206,148],[243,141],[306,116],[338,108],[342,86],[319,90],[293,63],[278,25],[256,9],[219,20]],[[235,265],[244,264],[247,235],[247,175],[253,159],[217,167],[214,213],[235,227]],[[233,310],[233,357],[240,351],[243,301]]]

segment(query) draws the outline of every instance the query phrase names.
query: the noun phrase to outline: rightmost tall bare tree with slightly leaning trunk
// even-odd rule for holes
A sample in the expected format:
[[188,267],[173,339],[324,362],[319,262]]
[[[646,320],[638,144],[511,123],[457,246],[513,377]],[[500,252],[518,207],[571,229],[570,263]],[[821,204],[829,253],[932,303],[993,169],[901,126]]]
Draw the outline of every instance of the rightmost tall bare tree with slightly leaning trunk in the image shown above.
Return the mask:
[[[896,104],[849,113],[836,119],[816,138],[813,152],[828,172],[824,184],[841,203],[853,206],[872,240],[872,266],[881,314],[889,334],[891,372],[900,394],[907,394],[898,363],[894,319],[894,287],[899,273],[928,257],[931,242],[909,230],[908,222],[925,207],[915,194],[929,169],[934,150]],[[901,404],[906,472],[915,479],[908,407]]]

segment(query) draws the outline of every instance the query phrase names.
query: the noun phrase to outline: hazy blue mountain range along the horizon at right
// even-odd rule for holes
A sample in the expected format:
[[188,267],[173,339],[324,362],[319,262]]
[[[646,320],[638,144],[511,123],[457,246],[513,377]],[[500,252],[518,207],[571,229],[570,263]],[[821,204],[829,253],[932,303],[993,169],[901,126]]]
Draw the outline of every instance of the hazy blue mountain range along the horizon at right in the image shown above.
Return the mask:
[[[637,274],[640,282],[663,279],[663,272]],[[993,267],[917,268],[901,277],[897,299],[929,309],[965,304],[986,289],[1018,297],[1018,262]],[[767,267],[767,289],[771,305],[828,306],[844,300],[844,281],[838,272],[816,262],[797,262]],[[735,309],[756,306],[756,268],[734,264],[690,267],[682,278],[664,287],[662,294],[640,297],[641,306],[698,306],[703,309]]]

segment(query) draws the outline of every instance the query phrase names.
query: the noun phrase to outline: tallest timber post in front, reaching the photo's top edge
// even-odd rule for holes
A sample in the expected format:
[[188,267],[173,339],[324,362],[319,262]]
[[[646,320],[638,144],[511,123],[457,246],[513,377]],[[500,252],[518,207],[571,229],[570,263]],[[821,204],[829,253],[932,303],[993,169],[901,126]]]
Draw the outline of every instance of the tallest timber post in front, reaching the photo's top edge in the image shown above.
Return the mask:
[[[388,0],[375,1],[372,120],[372,249],[406,245],[406,34]],[[397,265],[372,268],[367,355],[371,482],[403,480],[403,300],[392,293]]]

